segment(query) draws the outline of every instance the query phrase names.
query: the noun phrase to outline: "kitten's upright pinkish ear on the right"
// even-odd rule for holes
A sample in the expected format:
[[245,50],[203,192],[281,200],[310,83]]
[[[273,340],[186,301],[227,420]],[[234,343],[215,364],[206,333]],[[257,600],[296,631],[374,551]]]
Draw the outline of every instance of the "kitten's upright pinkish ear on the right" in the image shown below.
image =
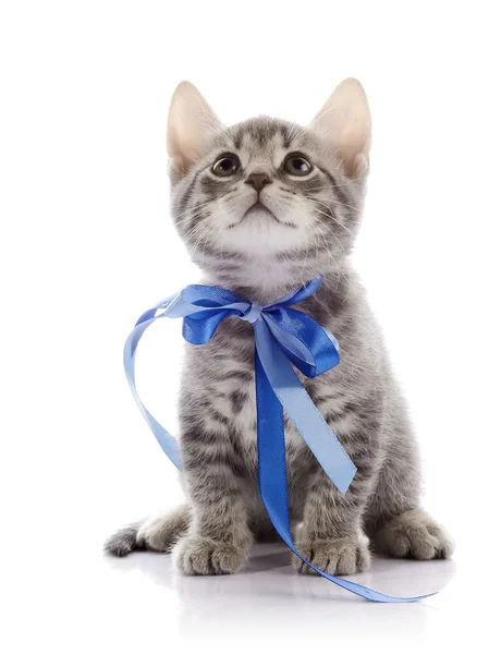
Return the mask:
[[367,96],[357,80],[344,80],[337,86],[313,124],[330,140],[350,175],[368,170],[371,118]]

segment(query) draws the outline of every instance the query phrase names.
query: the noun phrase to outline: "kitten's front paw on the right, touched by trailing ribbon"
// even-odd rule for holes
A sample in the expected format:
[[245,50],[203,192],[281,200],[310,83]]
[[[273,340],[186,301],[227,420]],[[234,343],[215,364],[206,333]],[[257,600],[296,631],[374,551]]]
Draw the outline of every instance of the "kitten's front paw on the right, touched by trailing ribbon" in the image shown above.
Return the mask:
[[[368,547],[356,538],[301,540],[296,547],[304,558],[328,574],[354,574],[366,570],[370,565]],[[302,574],[317,574],[295,555],[292,562]]]

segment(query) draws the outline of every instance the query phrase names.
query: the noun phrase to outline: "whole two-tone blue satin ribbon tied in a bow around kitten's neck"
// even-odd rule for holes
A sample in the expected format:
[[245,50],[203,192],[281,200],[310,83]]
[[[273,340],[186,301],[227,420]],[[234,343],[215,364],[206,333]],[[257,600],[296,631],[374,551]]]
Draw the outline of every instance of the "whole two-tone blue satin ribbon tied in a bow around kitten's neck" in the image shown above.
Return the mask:
[[391,597],[316,568],[295,548],[289,523],[288,479],[283,410],[315,455],[326,474],[343,495],[356,468],[302,386],[291,362],[307,377],[316,377],[340,362],[338,342],[310,316],[292,308],[321,283],[316,278],[277,302],[260,305],[235,293],[209,286],[188,286],[163,300],[137,320],[124,347],[124,368],[133,397],[171,461],[181,469],[176,439],[160,425],[140,401],[134,364],[137,344],[146,329],[160,318],[182,318],[183,337],[192,344],[207,343],[219,323],[236,316],[253,324],[257,404],[258,482],[267,513],[284,543],[307,566],[360,597],[374,602],[416,602],[418,597]]

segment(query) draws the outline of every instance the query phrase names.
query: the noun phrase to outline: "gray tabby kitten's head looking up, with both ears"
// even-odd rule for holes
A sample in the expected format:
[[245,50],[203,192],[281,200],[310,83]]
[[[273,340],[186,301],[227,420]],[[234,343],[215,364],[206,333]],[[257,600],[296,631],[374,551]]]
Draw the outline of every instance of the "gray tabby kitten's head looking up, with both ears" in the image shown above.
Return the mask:
[[306,128],[268,117],[225,128],[183,82],[167,145],[176,228],[211,278],[280,288],[341,266],[358,226],[370,146],[356,80],[343,82]]

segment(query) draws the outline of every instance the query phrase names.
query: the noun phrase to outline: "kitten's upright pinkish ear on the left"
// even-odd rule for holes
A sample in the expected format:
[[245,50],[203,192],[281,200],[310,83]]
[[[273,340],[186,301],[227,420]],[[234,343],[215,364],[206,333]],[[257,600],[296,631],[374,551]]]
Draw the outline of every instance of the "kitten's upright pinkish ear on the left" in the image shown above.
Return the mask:
[[206,137],[220,125],[198,89],[190,82],[181,82],[168,116],[167,150],[171,170],[184,173],[197,159]]

